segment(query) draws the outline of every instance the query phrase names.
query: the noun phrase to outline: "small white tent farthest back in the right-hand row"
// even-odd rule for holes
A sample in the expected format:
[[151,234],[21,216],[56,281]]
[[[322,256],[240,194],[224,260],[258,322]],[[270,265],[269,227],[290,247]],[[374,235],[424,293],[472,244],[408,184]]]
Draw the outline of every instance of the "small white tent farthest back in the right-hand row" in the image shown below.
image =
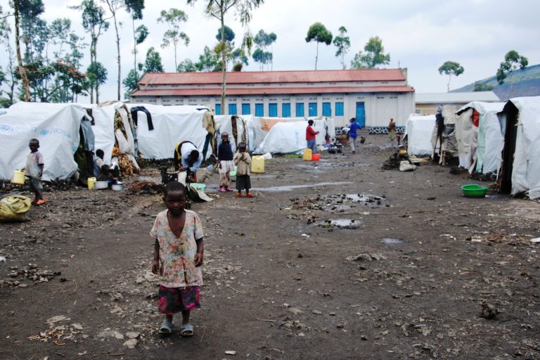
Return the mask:
[[404,139],[407,139],[409,156],[431,155],[431,134],[435,128],[435,115],[409,115],[405,124]]

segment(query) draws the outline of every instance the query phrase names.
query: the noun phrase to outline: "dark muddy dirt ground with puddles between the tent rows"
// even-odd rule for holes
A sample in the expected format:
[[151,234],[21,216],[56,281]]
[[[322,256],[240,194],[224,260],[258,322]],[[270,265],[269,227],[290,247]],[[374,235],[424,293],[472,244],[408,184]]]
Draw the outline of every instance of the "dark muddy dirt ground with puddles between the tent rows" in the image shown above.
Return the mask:
[[157,334],[160,195],[47,192],[0,224],[0,359],[540,359],[540,204],[393,151],[267,160],[252,199],[212,174],[193,338]]

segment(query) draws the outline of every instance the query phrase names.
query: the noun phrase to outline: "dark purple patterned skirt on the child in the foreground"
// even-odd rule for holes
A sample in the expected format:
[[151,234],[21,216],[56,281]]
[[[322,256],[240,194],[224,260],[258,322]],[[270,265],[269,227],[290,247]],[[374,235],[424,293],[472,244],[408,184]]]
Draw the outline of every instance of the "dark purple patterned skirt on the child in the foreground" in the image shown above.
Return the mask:
[[167,288],[160,285],[158,291],[158,309],[161,314],[176,314],[182,310],[193,310],[200,307],[199,287]]

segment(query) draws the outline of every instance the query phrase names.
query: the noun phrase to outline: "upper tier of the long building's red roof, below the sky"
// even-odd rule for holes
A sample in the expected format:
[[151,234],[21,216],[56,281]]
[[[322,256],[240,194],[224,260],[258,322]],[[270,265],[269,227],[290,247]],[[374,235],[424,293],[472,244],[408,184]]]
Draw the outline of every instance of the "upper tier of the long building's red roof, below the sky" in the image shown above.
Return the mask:
[[[405,81],[399,69],[227,72],[228,84]],[[221,84],[221,72],[150,72],[139,84]]]

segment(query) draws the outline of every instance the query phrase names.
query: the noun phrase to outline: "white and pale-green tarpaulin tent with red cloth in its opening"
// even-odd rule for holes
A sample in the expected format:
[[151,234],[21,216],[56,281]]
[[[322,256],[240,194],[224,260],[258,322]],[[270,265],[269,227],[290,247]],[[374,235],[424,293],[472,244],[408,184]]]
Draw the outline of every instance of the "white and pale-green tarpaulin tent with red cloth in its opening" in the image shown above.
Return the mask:
[[[497,113],[503,107],[504,103],[473,101],[457,111],[459,165],[469,169],[470,173],[499,171],[504,138]],[[479,114],[478,127],[473,124],[473,111],[468,111],[470,109]]]

